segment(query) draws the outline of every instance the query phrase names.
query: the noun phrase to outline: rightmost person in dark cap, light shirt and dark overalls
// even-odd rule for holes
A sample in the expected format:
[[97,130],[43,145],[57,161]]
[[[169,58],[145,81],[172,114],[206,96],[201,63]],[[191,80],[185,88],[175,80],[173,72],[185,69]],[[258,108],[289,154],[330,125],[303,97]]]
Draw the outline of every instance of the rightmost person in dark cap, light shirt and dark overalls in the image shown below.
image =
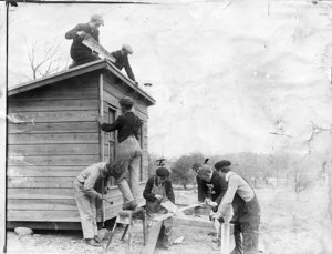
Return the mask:
[[236,225],[235,231],[238,230],[242,234],[241,247],[243,252],[238,251],[235,253],[258,253],[260,206],[253,189],[243,177],[231,172],[230,161],[219,161],[215,164],[215,167],[217,171],[221,171],[228,183],[227,192],[218,206],[216,219],[226,217],[234,200],[236,197],[241,199],[243,205],[238,207],[238,225]]

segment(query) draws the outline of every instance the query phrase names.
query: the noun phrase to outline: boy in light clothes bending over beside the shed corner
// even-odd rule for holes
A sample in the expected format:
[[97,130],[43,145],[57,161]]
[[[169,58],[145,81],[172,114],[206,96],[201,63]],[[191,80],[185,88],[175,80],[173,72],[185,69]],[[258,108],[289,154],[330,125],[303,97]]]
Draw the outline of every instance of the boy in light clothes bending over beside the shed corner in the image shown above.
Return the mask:
[[96,200],[103,200],[94,190],[95,183],[111,175],[111,165],[100,162],[87,166],[74,180],[74,196],[81,217],[83,237],[92,246],[100,246],[96,224]]

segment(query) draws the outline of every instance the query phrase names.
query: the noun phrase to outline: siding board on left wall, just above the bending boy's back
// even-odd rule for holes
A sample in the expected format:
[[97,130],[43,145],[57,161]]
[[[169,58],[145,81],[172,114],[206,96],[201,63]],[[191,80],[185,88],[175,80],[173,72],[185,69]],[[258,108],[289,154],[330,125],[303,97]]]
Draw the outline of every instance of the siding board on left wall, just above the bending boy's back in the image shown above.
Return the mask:
[[91,165],[100,161],[98,155],[9,155],[8,165]]

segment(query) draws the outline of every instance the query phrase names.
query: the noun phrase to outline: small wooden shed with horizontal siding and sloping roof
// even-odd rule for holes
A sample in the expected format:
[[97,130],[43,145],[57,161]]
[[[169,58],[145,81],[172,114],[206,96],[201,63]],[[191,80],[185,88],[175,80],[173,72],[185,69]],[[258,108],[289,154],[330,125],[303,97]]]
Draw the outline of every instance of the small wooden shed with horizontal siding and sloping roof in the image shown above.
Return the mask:
[[[116,133],[101,131],[96,115],[115,121],[124,95],[134,99],[135,113],[143,120],[143,192],[148,177],[147,108],[155,101],[111,62],[86,63],[8,91],[8,227],[80,228],[73,180],[87,165],[116,158]],[[114,182],[96,186],[114,202],[97,204],[101,223],[122,209]]]

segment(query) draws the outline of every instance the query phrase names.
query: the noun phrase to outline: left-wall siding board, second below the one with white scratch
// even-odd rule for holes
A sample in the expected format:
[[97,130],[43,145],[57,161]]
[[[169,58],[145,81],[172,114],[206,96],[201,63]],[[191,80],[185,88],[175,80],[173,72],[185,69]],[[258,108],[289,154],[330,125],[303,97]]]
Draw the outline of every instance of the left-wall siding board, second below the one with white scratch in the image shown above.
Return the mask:
[[8,144],[96,144],[98,133],[8,134]]

